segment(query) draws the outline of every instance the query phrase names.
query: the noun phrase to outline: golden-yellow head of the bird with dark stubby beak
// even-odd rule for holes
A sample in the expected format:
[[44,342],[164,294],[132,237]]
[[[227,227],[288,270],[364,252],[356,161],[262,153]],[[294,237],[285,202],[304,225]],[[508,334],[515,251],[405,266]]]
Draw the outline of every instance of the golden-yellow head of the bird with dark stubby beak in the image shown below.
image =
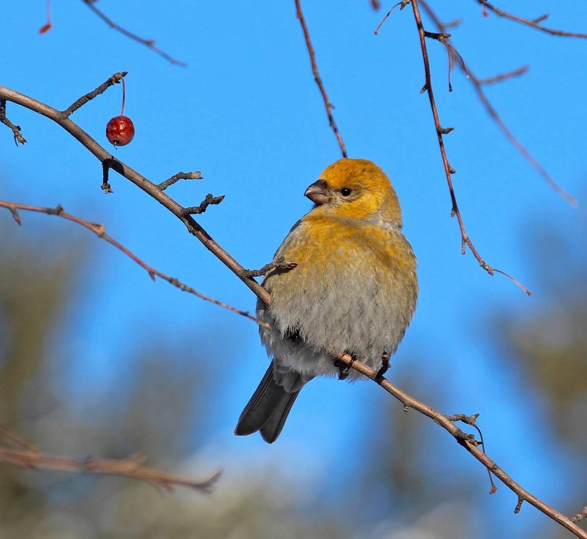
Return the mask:
[[304,193],[312,213],[355,219],[380,217],[402,226],[402,209],[387,175],[366,159],[340,159]]

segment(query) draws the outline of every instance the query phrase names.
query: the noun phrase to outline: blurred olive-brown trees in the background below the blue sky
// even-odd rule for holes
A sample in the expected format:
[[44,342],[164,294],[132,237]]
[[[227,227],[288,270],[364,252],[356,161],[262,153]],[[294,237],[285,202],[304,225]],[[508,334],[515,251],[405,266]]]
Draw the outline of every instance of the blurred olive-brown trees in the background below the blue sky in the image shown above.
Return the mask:
[[[225,464],[227,456],[207,454],[204,443],[214,421],[207,402],[222,384],[222,371],[210,368],[210,351],[194,347],[189,335],[173,344],[139,336],[136,356],[120,358],[121,366],[131,366],[129,379],[123,368],[109,394],[93,396],[89,383],[72,401],[65,388],[74,365],[83,370],[84,358],[60,356],[55,345],[60,320],[84,301],[78,284],[91,265],[93,244],[53,235],[16,243],[9,217],[0,219],[1,422],[50,453],[125,458],[140,451],[153,466],[194,477]],[[564,243],[564,234],[552,228],[550,237],[534,234],[527,244],[552,294],[530,315],[488,314],[487,327],[511,368],[544,403],[545,435],[568,446],[584,469],[587,257],[584,245],[569,245],[564,257],[553,259],[549,242]],[[103,321],[105,332],[108,323]],[[188,351],[193,358],[183,361]],[[214,361],[228,364],[230,358]],[[444,410],[447,385],[415,373],[402,376],[394,382],[450,412]],[[247,457],[224,473],[210,496],[4,464],[0,538],[493,537],[476,518],[489,490],[484,470],[470,474],[452,466],[439,456],[446,438],[440,429],[413,411],[402,413],[375,387],[373,394],[376,420],[357,450],[332,456],[343,471],[335,491],[328,478],[309,491],[296,480],[302,470]],[[468,459],[455,453],[457,461]],[[578,489],[587,491],[584,478],[578,474]],[[569,500],[562,509],[573,514],[581,507]],[[553,535],[537,531],[532,537]]]

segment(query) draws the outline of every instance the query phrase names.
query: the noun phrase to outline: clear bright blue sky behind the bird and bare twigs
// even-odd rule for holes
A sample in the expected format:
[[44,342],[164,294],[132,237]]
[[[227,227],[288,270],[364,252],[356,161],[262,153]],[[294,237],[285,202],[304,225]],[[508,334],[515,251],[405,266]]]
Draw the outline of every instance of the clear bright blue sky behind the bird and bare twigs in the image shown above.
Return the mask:
[[[445,141],[457,170],[453,180],[465,227],[485,260],[524,283],[530,298],[505,277],[487,275],[470,253],[460,254],[429,102],[419,93],[424,73],[410,9],[396,9],[378,36],[373,29],[388,5],[373,12],[366,0],[305,2],[303,9],[349,157],[373,160],[389,175],[419,259],[417,314],[389,378],[420,372],[443,386],[445,405],[451,406],[444,412],[481,412],[491,456],[529,491],[548,494],[547,501],[556,506],[568,499],[572,460],[538,429],[544,405],[500,356],[487,329],[494,309],[539,311],[548,297],[540,268],[529,257],[529,228],[539,233],[555,223],[572,240],[585,241],[587,41],[549,36],[494,15],[485,19],[476,2],[459,4],[456,11],[451,2],[434,2],[445,20],[463,18],[453,30],[453,42],[477,76],[530,65],[523,77],[487,87],[487,96],[580,203],[578,209],[569,207],[519,156],[461,73],[453,73],[454,91],[447,92],[446,52],[440,43],[428,42],[440,120],[456,128]],[[179,170],[200,170],[204,180],[181,181],[168,193],[184,206],[200,203],[209,192],[225,194],[224,202],[198,221],[242,265],[261,267],[311,208],[302,196],[306,186],[340,157],[312,79],[294,2],[258,9],[246,2],[230,9],[184,1],[164,6],[145,1],[140,10],[107,0],[98,6],[130,31],[157,39],[157,46],[188,67],[173,66],[107,28],[82,2],[55,2],[53,28],[45,35],[37,33],[44,23],[44,2],[8,3],[3,16],[18,33],[19,44],[14,36],[2,38],[9,54],[0,59],[0,83],[64,109],[114,72],[128,70],[126,114],[136,136],[114,155],[155,183]],[[515,10],[529,17],[551,12],[553,28],[587,28],[585,14],[578,16],[570,4],[521,1]],[[104,129],[119,114],[121,96],[120,85],[110,88],[72,119],[107,147]],[[106,225],[107,233],[153,267],[204,294],[254,308],[248,289],[163,207],[115,174],[110,182],[114,194],[104,196],[100,164],[65,131],[10,104],[7,115],[22,126],[29,143],[16,149],[9,130],[0,130],[2,199],[60,203],[69,213]],[[43,215],[22,217],[19,229],[6,215],[0,223],[17,239],[43,234],[55,244],[73,227]],[[217,417],[211,447],[222,454],[254,454],[263,460],[285,452],[298,456],[298,464],[306,459],[305,466],[335,470],[329,456],[352,450],[366,418],[376,422],[374,407],[384,396],[375,386],[316,380],[296,403],[281,447],[266,446],[258,436],[234,437],[235,421],[267,363],[255,325],[163,281],[151,282],[110,245],[78,232],[91,244],[89,263],[77,292],[81,301],[73,302],[59,342],[84,358],[72,388],[92,379],[92,391],[107,399],[113,385],[122,383],[120,358],[149,342],[153,332],[164,342],[193,335],[201,346],[218,349],[217,368],[232,373],[218,402],[210,405]],[[559,246],[550,248],[556,257]],[[109,321],[107,338],[103,320]],[[333,420],[341,407],[344,422]],[[446,447],[451,466],[483,476],[456,444]],[[551,467],[538,474],[546,462]],[[516,526],[519,534],[544,518],[530,508],[514,518],[514,495],[505,487],[485,504],[486,518],[499,516],[504,527]]]

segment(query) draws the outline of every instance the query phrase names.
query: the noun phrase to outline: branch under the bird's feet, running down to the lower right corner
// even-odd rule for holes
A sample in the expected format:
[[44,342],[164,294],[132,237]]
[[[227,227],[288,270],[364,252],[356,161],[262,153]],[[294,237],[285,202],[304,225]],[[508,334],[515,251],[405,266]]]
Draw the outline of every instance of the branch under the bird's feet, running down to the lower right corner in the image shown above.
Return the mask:
[[394,386],[391,382],[389,382],[389,380],[383,378],[383,376],[377,376],[377,371],[368,367],[365,365],[365,363],[361,363],[356,359],[353,359],[347,353],[331,353],[339,361],[346,363],[346,365],[350,365],[357,372],[360,372],[362,375],[365,375],[367,378],[370,378],[375,383],[380,385],[384,390],[387,391],[387,393],[390,393],[390,395],[399,400],[404,405],[404,408],[413,408],[417,412],[420,412],[426,417],[429,417],[431,420],[437,423],[437,425],[443,427],[444,430],[447,430],[458,442],[458,444],[471,453],[475,459],[480,461],[480,463],[483,464],[483,466],[485,466],[492,474],[494,474],[494,476],[497,477],[497,479],[499,479],[506,487],[508,487],[508,489],[514,491],[518,497],[524,498],[525,501],[528,501],[528,503],[532,504],[539,511],[542,511],[542,513],[544,513],[549,518],[552,518],[552,520],[555,522],[564,526],[577,537],[587,539],[587,531],[581,530],[581,528],[573,523],[570,518],[566,517],[562,513],[559,513],[559,511],[556,511],[552,507],[549,507],[537,497],[532,496],[532,494],[523,489],[507,473],[505,473],[504,470],[495,464],[495,462],[491,460],[487,454],[483,453],[483,451],[479,449],[479,443],[475,440],[473,434],[465,434],[450,420],[449,417],[445,416],[443,413],[438,412],[437,410],[434,410],[434,408],[431,406],[414,399],[414,397],[408,395],[402,389]]

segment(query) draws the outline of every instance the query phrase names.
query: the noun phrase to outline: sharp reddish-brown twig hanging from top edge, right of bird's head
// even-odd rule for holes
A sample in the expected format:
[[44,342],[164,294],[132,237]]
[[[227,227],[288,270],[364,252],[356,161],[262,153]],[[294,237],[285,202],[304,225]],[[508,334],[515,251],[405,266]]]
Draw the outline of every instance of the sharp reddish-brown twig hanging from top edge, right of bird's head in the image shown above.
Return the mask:
[[[420,46],[422,49],[422,58],[424,60],[424,73],[426,75],[426,84],[424,85],[424,89],[426,89],[428,92],[428,97],[430,100],[430,107],[432,109],[432,115],[434,117],[434,126],[436,127],[436,135],[438,137],[438,146],[440,147],[440,154],[442,156],[444,171],[446,173],[448,190],[450,191],[450,198],[451,198],[451,201],[453,202],[453,209],[451,211],[451,215],[457,216],[458,226],[461,230],[461,240],[462,240],[461,252],[463,254],[465,254],[465,245],[468,245],[468,247],[470,248],[474,257],[477,258],[479,265],[483,269],[485,269],[485,271],[487,271],[488,274],[493,275],[494,268],[492,268],[489,264],[487,264],[487,262],[485,262],[483,260],[483,258],[481,258],[481,255],[477,252],[477,250],[475,249],[475,247],[473,245],[473,242],[471,241],[471,239],[468,237],[467,233],[465,232],[463,217],[461,217],[461,212],[458,209],[457,197],[454,194],[453,180],[451,178],[451,174],[454,173],[453,172],[454,169],[452,169],[450,164],[448,164],[448,158],[446,156],[446,149],[444,149],[443,133],[447,133],[447,129],[444,129],[440,125],[440,120],[438,119],[438,110],[436,109],[436,102],[434,100],[434,92],[432,90],[432,80],[431,80],[431,76],[430,76],[430,62],[428,60],[428,50],[426,49],[426,31],[424,30],[424,26],[422,24],[422,19],[420,17],[420,9],[418,7],[418,0],[411,0],[411,7],[414,12],[414,19],[416,20],[416,26],[418,28],[418,33],[420,36]],[[448,129],[450,129],[450,128],[448,128]],[[521,284],[519,284],[518,281],[516,281],[515,279],[510,277],[510,275],[506,274],[505,272],[503,272],[501,270],[499,272],[501,274],[505,275],[506,277],[509,277],[512,281],[514,281],[516,284],[518,284],[518,286],[524,292],[526,292],[526,294],[530,295],[530,292],[526,288],[524,288]]]

